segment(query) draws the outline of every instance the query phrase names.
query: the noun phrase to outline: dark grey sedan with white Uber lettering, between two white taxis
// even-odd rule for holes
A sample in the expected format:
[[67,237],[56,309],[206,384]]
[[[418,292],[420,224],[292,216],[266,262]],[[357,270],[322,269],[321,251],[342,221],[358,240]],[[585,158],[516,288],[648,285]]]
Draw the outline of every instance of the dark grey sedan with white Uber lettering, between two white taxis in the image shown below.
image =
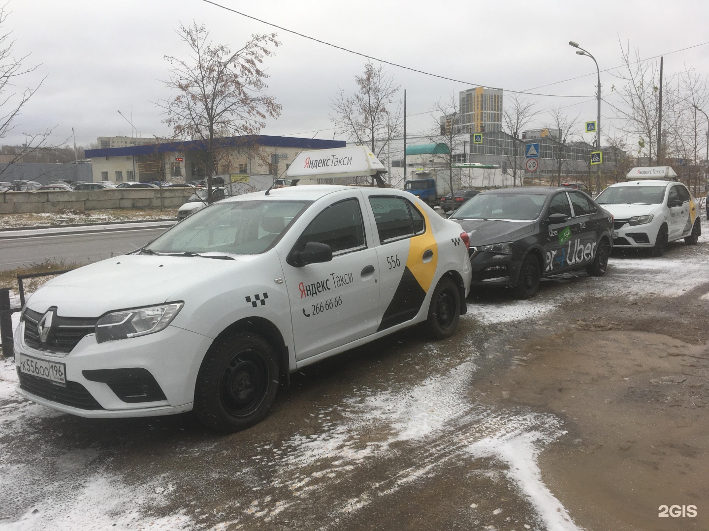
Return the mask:
[[449,219],[469,235],[471,285],[511,287],[522,299],[544,276],[579,268],[603,275],[613,248],[613,216],[566,187],[487,190]]

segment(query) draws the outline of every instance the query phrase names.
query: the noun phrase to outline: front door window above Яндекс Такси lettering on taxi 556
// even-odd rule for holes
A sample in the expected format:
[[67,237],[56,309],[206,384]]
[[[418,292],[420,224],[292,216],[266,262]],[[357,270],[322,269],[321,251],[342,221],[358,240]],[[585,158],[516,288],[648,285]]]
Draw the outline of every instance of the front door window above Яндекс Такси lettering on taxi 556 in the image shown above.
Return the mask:
[[302,251],[308,241],[328,244],[333,250],[333,256],[366,249],[359,201],[354,198],[345,199],[325,208],[301,234],[296,249]]

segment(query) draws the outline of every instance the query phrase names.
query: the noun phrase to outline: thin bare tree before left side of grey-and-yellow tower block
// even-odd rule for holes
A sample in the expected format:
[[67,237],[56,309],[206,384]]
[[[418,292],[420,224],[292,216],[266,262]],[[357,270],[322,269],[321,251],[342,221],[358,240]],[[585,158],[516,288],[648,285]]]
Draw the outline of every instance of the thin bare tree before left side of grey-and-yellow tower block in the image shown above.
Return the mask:
[[457,130],[460,123],[460,98],[457,93],[452,92],[445,101],[437,101],[431,108],[432,131],[428,135],[430,142],[445,144],[447,153],[433,154],[435,159],[442,161],[448,173],[448,185],[451,193],[455,193],[453,185],[453,162],[456,156],[464,149],[465,139],[469,135],[461,135]]

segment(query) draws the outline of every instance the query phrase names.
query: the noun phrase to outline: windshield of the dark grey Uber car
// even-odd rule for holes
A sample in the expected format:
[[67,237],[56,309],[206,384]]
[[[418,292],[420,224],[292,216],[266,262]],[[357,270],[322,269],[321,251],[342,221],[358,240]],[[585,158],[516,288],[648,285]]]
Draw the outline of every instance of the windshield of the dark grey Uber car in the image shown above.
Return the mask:
[[530,193],[479,193],[470,198],[453,219],[537,219],[546,195]]

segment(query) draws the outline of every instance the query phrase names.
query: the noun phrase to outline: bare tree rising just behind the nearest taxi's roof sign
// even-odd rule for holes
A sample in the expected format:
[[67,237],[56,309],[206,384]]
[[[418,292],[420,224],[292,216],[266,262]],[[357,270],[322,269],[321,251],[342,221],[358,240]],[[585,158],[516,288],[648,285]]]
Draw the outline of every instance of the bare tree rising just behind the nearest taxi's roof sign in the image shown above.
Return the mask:
[[[377,159],[385,159],[384,153],[391,141],[401,131],[403,112],[401,101],[395,99],[400,86],[393,75],[387,75],[384,67],[374,67],[371,62],[364,64],[361,76],[354,76],[357,93],[348,96],[343,89],[337,91],[330,108],[334,115],[337,132],[346,135],[350,142],[367,146]],[[376,175],[379,186],[384,185],[381,176]]]

